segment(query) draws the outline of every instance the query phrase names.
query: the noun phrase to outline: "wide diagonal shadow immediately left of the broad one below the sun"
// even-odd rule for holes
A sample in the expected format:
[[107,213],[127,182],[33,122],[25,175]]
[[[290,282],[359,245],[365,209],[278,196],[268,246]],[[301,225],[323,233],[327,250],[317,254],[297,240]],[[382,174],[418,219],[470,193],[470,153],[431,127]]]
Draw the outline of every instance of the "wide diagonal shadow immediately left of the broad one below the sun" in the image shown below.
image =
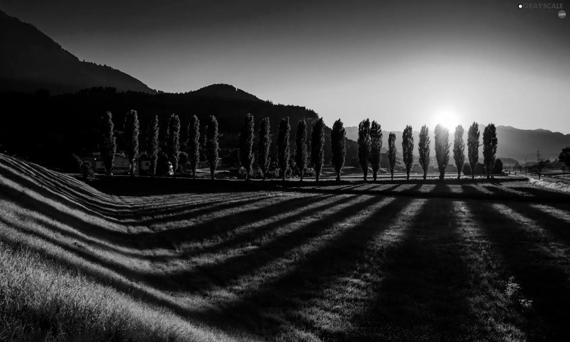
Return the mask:
[[[308,236],[302,237],[301,235],[309,233],[310,237],[316,237],[335,222],[340,222],[349,216],[359,215],[363,210],[373,211],[368,218],[353,226],[347,227],[343,224],[337,227],[336,231],[331,232],[332,239],[323,241],[322,247],[304,252],[299,261],[286,266],[287,270],[291,269],[288,273],[266,280],[260,285],[258,291],[245,294],[238,301],[229,303],[224,313],[231,317],[241,318],[242,322],[245,320],[243,324],[251,331],[262,330],[264,333],[278,334],[282,331],[284,319],[287,319],[287,324],[294,324],[302,330],[311,331],[323,340],[338,338],[336,333],[326,331],[323,327],[299,318],[302,315],[297,312],[301,307],[310,306],[319,296],[324,295],[323,291],[327,291],[337,279],[353,273],[356,266],[367,262],[365,255],[369,252],[368,243],[386,230],[400,211],[412,202],[412,199],[395,198],[386,205],[376,207],[382,201],[386,199],[372,197],[328,216],[323,220],[324,222],[317,222],[295,231],[294,234],[298,236],[291,234],[285,241],[275,241],[274,247],[278,247],[280,243],[285,243],[286,246],[280,247],[279,253],[272,253],[271,249],[267,248],[267,253],[271,253],[272,258],[284,256],[286,248],[292,249],[308,240]],[[304,232],[306,230],[309,232]],[[259,257],[263,258],[262,255]],[[274,313],[284,316],[276,318]]]

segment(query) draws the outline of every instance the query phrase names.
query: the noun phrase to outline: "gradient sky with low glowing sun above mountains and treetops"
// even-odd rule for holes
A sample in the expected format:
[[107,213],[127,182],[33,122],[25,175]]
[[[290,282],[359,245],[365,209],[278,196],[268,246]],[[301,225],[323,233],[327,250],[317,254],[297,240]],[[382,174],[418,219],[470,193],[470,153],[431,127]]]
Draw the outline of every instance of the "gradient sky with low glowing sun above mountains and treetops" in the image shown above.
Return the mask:
[[570,18],[518,5],[0,0],[80,60],[152,89],[231,84],[308,107],[329,127],[477,121],[570,134]]

